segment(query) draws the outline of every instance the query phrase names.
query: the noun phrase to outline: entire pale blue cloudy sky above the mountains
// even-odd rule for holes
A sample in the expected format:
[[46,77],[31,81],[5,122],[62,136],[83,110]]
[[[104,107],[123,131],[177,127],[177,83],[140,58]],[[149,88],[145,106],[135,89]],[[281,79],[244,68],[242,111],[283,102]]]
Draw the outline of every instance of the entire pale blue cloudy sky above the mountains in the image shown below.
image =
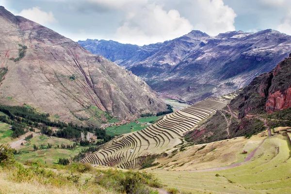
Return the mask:
[[148,45],[191,30],[211,36],[274,29],[291,35],[291,0],[0,0],[74,41]]

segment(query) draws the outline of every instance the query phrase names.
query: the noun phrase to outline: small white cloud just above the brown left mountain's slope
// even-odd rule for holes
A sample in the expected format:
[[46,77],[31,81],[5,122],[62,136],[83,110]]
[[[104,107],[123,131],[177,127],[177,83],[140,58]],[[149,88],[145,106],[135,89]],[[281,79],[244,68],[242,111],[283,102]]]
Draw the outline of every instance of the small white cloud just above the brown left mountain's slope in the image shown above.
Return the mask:
[[41,25],[54,24],[58,22],[55,19],[52,12],[47,13],[45,11],[42,11],[39,7],[33,7],[31,9],[24,9],[17,15],[23,16]]

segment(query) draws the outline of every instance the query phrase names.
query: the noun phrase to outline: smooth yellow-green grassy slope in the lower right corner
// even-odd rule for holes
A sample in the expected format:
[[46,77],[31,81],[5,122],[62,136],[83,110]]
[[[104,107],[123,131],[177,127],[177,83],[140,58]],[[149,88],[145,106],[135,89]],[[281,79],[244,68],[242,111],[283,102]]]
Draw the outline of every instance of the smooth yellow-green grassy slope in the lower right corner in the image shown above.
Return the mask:
[[[220,171],[150,170],[162,183],[181,192],[202,194],[290,194],[291,146],[286,136],[267,138],[254,157]],[[215,158],[212,160],[215,163]],[[195,170],[195,169],[194,169]]]

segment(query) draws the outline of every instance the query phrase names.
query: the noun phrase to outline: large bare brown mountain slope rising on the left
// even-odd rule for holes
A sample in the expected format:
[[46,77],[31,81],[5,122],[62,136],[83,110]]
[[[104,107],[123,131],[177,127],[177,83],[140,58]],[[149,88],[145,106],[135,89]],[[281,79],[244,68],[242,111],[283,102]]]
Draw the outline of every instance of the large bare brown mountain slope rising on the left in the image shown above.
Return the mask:
[[167,110],[136,75],[0,7],[0,101],[52,119],[99,125]]

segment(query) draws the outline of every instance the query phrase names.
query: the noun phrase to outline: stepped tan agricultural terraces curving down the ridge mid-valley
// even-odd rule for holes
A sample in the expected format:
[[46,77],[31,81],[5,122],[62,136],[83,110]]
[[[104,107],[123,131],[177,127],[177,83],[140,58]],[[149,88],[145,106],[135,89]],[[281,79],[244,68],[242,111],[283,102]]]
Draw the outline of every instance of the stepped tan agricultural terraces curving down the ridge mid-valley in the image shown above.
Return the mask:
[[208,98],[188,106],[147,128],[113,139],[108,146],[82,162],[130,169],[141,165],[152,154],[162,153],[181,143],[180,137],[197,123],[222,109],[230,98]]

